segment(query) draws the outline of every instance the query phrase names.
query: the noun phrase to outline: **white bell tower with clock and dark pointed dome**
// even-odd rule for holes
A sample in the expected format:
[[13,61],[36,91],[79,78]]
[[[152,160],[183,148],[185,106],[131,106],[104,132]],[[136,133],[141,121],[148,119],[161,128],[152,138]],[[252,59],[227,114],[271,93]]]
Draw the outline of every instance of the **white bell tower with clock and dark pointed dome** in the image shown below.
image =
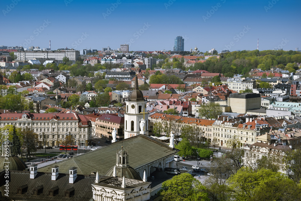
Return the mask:
[[134,89],[126,100],[124,139],[139,134],[148,135],[148,115],[144,111],[146,103],[147,100],[143,98],[142,91],[138,89],[138,77],[136,76]]

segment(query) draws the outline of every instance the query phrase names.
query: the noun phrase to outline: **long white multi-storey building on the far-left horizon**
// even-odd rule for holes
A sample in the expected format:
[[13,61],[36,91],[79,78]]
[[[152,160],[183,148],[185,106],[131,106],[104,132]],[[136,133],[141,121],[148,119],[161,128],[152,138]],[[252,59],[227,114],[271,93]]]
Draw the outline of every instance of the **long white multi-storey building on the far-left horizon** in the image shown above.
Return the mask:
[[62,61],[64,57],[69,58],[70,61],[78,61],[78,50],[66,51],[18,51],[14,52],[14,56],[18,61],[28,61],[33,59],[56,59]]

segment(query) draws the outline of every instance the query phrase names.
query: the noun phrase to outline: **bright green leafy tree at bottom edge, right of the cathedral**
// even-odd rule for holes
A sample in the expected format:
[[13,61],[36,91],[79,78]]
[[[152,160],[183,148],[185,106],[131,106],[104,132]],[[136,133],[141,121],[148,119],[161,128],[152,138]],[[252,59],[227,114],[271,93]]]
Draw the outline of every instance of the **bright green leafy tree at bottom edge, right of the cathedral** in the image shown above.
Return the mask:
[[206,188],[191,174],[182,173],[162,183],[163,201],[209,201]]

